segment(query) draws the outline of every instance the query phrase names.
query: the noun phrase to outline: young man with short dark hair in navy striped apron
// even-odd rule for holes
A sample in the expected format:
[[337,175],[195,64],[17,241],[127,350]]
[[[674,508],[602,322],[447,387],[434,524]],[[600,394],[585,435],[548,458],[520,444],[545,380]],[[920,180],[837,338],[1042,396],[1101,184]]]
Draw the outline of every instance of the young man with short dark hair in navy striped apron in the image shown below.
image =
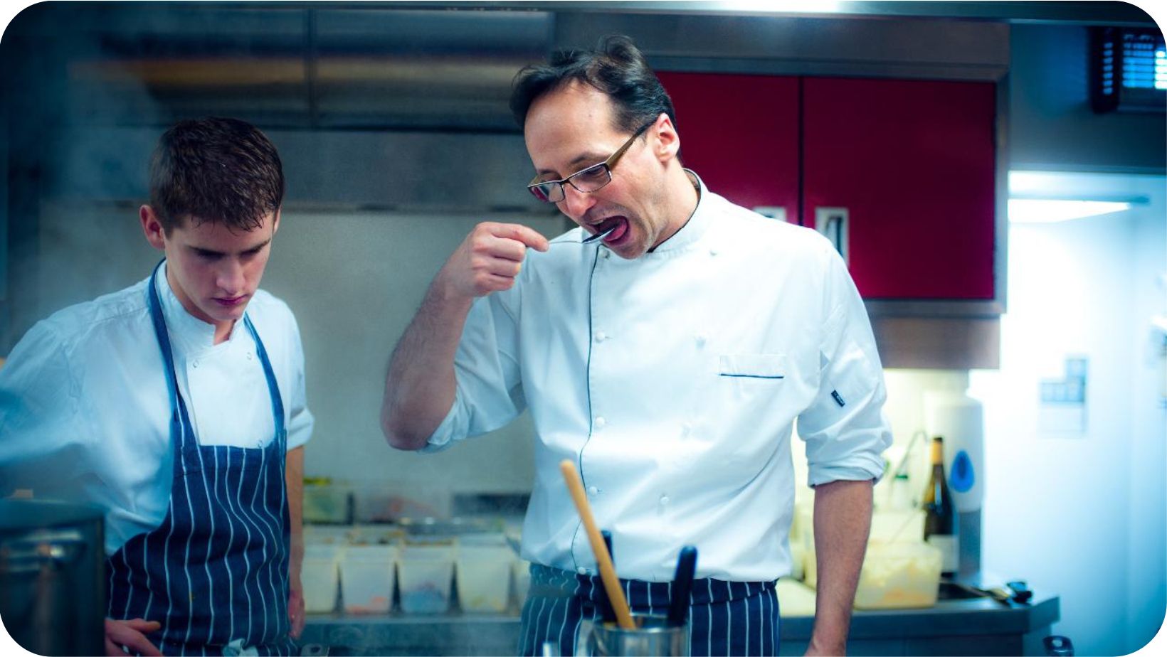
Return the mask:
[[106,510],[107,653],[287,655],[313,417],[295,317],[259,289],[280,159],[244,121],[182,121],[149,195],[165,259],[39,322],[0,369],[0,495]]

